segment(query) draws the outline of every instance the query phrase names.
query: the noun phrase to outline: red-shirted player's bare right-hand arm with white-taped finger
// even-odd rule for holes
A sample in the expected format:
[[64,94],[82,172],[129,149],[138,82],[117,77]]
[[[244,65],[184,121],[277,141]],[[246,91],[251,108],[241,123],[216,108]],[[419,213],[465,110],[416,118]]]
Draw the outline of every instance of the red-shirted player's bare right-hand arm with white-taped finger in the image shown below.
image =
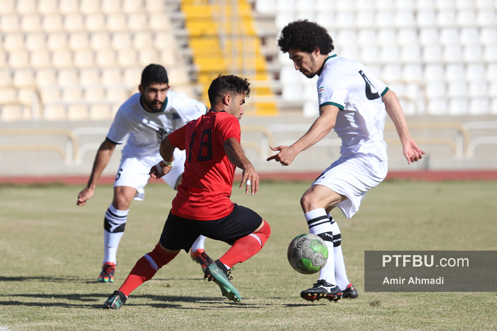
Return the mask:
[[255,172],[255,168],[248,160],[247,156],[245,156],[244,150],[242,149],[240,143],[235,138],[229,138],[223,143],[223,146],[226,156],[228,156],[230,162],[243,170],[240,189],[244,183],[249,181],[248,183],[250,183],[250,185],[246,185],[245,193],[248,194],[248,191],[250,190],[252,196],[257,194],[257,191],[259,190],[259,175]]

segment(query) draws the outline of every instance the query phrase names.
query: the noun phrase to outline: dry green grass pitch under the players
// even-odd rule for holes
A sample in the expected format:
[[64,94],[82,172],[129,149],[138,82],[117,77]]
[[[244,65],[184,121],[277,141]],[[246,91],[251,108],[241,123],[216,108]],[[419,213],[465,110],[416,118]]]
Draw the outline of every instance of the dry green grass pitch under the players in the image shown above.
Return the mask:
[[[131,207],[118,252],[116,283],[100,284],[103,213],[112,189],[98,187],[76,206],[80,187],[0,188],[0,329],[11,330],[496,330],[497,296],[489,292],[364,292],[365,250],[496,250],[495,182],[385,182],[340,224],[357,299],[302,300],[316,275],[295,272],[286,249],[307,232],[299,199],[309,183],[263,182],[259,194],[234,189],[233,200],[257,211],[272,234],[260,253],[236,265],[235,304],[202,278],[182,252],[117,311],[101,309],[135,262],[157,243],[174,192],[146,188]],[[228,245],[207,239],[218,258]]]

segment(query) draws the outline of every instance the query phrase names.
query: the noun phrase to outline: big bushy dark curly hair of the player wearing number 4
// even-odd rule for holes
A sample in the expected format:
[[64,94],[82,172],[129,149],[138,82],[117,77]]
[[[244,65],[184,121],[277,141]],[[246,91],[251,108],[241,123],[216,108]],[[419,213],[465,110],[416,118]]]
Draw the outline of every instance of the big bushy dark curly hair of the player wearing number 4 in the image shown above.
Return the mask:
[[312,53],[317,47],[321,54],[329,54],[334,49],[333,40],[328,31],[307,19],[288,23],[281,30],[278,46],[283,53],[287,53],[291,48]]

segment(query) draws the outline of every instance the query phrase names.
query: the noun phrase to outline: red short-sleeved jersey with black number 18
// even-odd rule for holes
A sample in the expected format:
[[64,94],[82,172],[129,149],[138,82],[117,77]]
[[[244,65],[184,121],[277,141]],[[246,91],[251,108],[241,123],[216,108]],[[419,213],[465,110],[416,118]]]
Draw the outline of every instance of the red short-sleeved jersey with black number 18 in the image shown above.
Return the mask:
[[238,118],[210,111],[167,137],[173,146],[186,149],[185,170],[171,212],[197,220],[229,215],[234,207],[230,196],[235,165],[228,160],[223,143],[232,137],[240,143]]

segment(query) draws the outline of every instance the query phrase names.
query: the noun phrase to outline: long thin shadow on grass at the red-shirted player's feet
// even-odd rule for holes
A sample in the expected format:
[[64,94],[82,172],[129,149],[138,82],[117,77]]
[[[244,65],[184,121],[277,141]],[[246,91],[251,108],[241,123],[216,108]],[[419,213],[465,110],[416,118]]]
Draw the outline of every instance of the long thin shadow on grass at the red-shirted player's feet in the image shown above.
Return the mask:
[[[88,294],[9,294],[1,295],[1,297],[22,297],[22,298],[37,298],[48,299],[46,302],[24,302],[18,300],[0,301],[0,306],[27,306],[27,307],[66,307],[66,308],[103,308],[103,302],[107,299],[109,293],[88,293]],[[136,299],[147,299],[150,303],[133,303]],[[59,302],[50,302],[51,300]],[[86,302],[94,302],[100,300],[99,304],[86,304]],[[79,301],[80,303],[74,303]],[[178,302],[178,303],[174,303]],[[198,303],[198,307],[184,307],[181,303]],[[224,297],[193,297],[193,296],[173,296],[173,295],[133,295],[126,303],[129,307],[148,306],[154,308],[176,308],[176,309],[201,309],[212,310],[226,308],[227,306],[235,308],[262,308],[257,304],[233,303]]]

